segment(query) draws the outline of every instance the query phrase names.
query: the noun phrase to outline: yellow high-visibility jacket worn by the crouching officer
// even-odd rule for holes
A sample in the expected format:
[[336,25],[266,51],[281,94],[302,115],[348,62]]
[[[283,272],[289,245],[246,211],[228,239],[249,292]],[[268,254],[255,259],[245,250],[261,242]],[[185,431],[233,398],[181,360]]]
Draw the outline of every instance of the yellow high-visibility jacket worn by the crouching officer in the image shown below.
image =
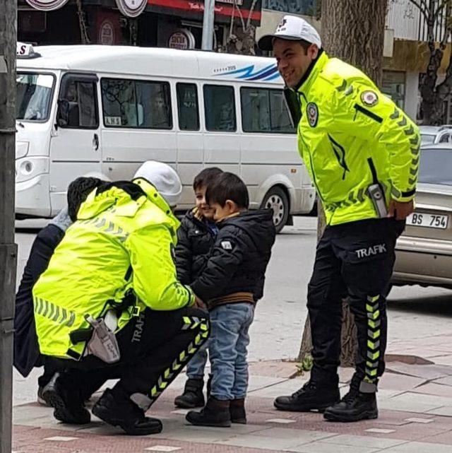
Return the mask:
[[117,331],[145,307],[177,310],[194,303],[191,289],[177,281],[172,256],[179,220],[155,187],[133,182],[88,195],[35,284],[42,354],[80,358],[85,341],[74,344],[71,331],[88,328],[85,314],[103,316],[112,308],[107,301],[121,302],[130,289],[136,298],[121,313]]

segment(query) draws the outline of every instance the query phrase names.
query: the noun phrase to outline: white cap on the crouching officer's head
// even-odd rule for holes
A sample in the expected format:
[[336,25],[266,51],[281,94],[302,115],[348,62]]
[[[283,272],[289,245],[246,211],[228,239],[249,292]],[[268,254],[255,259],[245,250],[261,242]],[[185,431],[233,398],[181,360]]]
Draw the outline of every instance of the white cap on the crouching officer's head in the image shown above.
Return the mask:
[[176,206],[182,194],[182,182],[172,167],[156,160],[146,160],[136,170],[133,179],[143,178],[153,184],[157,192],[171,207]]

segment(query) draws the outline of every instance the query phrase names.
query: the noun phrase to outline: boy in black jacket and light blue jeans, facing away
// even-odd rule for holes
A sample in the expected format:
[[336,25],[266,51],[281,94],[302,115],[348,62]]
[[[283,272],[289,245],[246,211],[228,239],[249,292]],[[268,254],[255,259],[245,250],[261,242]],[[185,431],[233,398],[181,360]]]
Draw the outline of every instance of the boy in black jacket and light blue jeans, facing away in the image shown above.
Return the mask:
[[206,201],[219,228],[206,269],[191,283],[210,312],[208,342],[212,365],[210,396],[201,412],[190,411],[194,425],[230,426],[246,423],[244,399],[248,387],[246,347],[256,301],[275,242],[273,211],[247,211],[244,182],[224,172],[209,185]]

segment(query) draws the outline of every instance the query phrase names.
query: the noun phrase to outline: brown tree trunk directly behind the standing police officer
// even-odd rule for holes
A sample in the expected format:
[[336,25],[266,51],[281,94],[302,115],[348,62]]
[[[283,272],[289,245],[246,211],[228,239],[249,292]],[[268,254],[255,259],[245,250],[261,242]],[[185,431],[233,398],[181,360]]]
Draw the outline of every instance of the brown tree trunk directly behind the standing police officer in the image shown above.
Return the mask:
[[[387,0],[322,0],[321,30],[323,48],[331,57],[338,57],[357,66],[378,86],[383,76],[383,42]],[[317,239],[325,229],[325,214],[319,201]],[[342,366],[355,365],[357,333],[347,301],[343,301],[341,338]],[[304,325],[298,360],[311,353],[309,316]]]

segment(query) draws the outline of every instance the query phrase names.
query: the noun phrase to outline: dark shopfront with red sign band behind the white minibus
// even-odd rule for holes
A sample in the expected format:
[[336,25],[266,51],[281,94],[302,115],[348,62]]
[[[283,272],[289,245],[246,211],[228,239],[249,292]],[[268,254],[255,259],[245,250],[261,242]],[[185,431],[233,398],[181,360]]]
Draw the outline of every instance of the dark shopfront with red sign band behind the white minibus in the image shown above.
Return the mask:
[[[200,49],[203,11],[202,0],[18,0],[18,40]],[[261,0],[215,1],[215,49],[240,17],[260,25]]]

